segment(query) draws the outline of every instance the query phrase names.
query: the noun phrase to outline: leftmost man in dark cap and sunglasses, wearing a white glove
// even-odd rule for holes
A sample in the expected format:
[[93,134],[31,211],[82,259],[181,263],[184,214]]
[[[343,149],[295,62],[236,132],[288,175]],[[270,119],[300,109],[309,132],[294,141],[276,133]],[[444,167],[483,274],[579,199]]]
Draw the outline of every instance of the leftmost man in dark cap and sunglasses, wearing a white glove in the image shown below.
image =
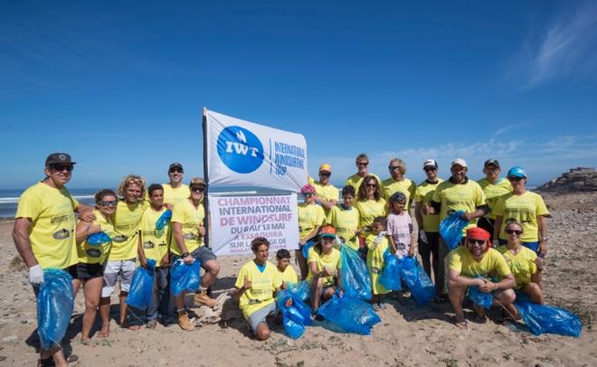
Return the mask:
[[[19,198],[14,219],[13,240],[16,250],[29,267],[29,283],[37,295],[43,283],[43,269],[66,269],[79,261],[75,245],[75,215],[81,220],[92,221],[88,205],[80,204],[64,187],[71,181],[75,162],[66,153],[52,153],[45,160],[45,179],[33,184]],[[46,351],[40,348],[38,364],[66,366],[78,357],[68,360],[60,345]]]

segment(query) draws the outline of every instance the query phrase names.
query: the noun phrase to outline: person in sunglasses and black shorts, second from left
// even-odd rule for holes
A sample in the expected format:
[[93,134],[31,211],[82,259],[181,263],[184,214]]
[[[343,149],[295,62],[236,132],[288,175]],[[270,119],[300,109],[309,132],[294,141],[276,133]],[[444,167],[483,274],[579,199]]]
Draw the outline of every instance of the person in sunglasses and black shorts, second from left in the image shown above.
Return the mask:
[[[79,221],[77,223],[75,240],[77,241],[79,262],[69,268],[74,294],[77,294],[82,285],[85,295],[81,343],[90,341],[91,326],[95,321],[98,306],[100,306],[101,288],[104,285],[104,264],[112,246],[111,238],[116,234],[111,218],[118,203],[116,193],[112,190],[100,190],[95,194],[95,203],[95,221]],[[104,232],[108,236],[104,241],[88,239],[90,235],[100,232]]]

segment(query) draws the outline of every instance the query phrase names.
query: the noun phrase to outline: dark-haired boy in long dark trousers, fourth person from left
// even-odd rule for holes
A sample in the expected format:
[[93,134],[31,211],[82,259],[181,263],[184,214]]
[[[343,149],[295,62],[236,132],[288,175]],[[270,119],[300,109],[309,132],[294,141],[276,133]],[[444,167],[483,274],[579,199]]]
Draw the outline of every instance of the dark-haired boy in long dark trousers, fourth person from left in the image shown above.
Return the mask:
[[[147,307],[147,325],[149,329],[156,327],[156,319],[159,315],[165,317],[168,314],[170,300],[168,288],[168,271],[170,267],[170,252],[168,251],[168,240],[170,239],[171,226],[169,220],[159,223],[160,218],[172,212],[164,204],[164,188],[161,184],[150,184],[147,188],[149,195],[149,207],[141,217],[139,231],[141,235],[138,240],[138,257],[142,267],[147,268],[147,260],[156,261],[153,288],[156,292],[151,293],[149,306]],[[162,226],[163,225],[163,226]],[[159,299],[158,299],[159,298]],[[159,310],[158,310],[159,305]]]

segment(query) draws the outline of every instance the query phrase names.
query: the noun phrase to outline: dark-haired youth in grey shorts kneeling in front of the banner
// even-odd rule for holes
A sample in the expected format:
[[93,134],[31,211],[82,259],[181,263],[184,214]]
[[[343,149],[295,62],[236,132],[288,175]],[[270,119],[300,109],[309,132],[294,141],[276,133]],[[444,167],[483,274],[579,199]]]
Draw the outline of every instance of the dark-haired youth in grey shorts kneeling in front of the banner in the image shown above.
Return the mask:
[[[239,300],[242,315],[257,340],[264,341],[271,331],[266,318],[276,313],[274,295],[280,291],[281,280],[276,266],[268,261],[270,241],[258,237],[251,241],[255,259],[244,264],[236,278],[234,298]],[[292,305],[290,298],[286,306]]]

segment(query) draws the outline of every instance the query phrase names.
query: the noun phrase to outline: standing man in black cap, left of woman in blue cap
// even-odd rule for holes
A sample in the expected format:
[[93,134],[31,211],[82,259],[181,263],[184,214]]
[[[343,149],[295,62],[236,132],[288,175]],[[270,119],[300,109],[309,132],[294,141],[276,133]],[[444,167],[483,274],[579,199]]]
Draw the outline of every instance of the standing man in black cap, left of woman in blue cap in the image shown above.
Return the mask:
[[477,183],[483,189],[485,197],[488,200],[489,212],[487,215],[479,218],[477,226],[489,232],[490,242],[493,242],[493,227],[496,223],[496,203],[500,196],[511,193],[512,185],[504,177],[500,177],[499,174],[502,172],[499,168],[499,162],[497,159],[488,159],[483,165],[483,173],[485,178],[480,179]]

